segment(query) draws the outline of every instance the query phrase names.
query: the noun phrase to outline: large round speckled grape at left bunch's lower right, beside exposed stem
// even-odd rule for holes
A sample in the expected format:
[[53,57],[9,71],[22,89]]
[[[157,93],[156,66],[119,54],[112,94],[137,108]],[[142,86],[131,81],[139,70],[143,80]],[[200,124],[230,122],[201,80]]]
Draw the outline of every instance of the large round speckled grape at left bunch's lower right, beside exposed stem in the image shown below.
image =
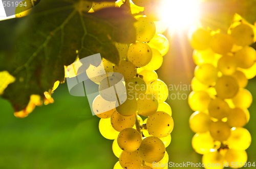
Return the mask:
[[148,116],[146,127],[150,134],[165,137],[173,131],[174,120],[166,112],[157,111],[154,115]]

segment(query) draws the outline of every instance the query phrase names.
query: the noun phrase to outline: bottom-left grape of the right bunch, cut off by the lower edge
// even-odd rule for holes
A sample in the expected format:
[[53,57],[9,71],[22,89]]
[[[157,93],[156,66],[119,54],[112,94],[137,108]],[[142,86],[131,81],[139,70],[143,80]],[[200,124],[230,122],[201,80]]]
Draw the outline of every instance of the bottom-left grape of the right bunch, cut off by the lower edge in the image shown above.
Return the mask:
[[218,151],[204,154],[202,157],[202,162],[205,165],[205,169],[208,169],[208,168],[222,169],[222,168],[224,168],[224,165],[223,165],[224,157]]

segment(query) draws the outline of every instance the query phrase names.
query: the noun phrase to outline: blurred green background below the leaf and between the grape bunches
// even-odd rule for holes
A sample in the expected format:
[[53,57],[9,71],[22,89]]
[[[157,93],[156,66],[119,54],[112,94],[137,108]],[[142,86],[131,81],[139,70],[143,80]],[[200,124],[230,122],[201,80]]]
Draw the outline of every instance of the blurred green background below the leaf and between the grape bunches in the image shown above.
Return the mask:
[[[167,85],[189,85],[195,65],[187,38],[177,35],[169,39],[172,47],[158,70],[159,77]],[[246,126],[252,135],[252,143],[247,150],[250,162],[256,162],[255,87],[254,78],[247,87],[254,96],[249,108],[251,119]],[[190,91],[170,91],[170,94],[178,92],[187,96]],[[92,116],[87,98],[71,96],[66,83],[57,88],[53,98],[53,104],[36,107],[25,119],[15,118],[11,105],[0,98],[0,168],[113,168],[118,161],[112,153],[113,141],[99,133],[99,118]],[[173,109],[175,121],[172,143],[167,148],[169,161],[201,162],[201,156],[191,147],[194,133],[188,126],[192,111],[187,100],[169,99],[167,102]]]

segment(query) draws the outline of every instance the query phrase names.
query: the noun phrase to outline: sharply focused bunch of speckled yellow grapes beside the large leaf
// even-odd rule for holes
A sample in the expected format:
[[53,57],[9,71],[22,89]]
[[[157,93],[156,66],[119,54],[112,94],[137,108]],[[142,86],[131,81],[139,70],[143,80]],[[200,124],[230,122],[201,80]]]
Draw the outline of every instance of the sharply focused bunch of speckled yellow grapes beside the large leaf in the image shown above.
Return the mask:
[[[174,121],[172,109],[165,102],[168,97],[167,85],[158,79],[155,70],[161,67],[169,42],[161,34],[165,31],[165,25],[157,21],[153,5],[153,1],[149,0],[100,2],[93,3],[91,9],[95,11],[116,6],[132,13],[137,20],[136,43],[116,43],[120,64],[114,65],[103,59],[106,77],[93,74],[98,73],[95,66],[91,65],[87,70],[92,75],[89,78],[99,84],[99,95],[94,99],[92,109],[101,118],[100,133],[114,140],[112,149],[119,158],[114,169],[168,167],[169,158],[165,148],[171,142]],[[117,73],[123,76],[119,77]],[[109,88],[118,91],[115,84],[122,78],[127,95],[124,101],[116,93],[104,92]],[[115,98],[118,101],[113,101]],[[118,106],[110,109],[113,105]]]

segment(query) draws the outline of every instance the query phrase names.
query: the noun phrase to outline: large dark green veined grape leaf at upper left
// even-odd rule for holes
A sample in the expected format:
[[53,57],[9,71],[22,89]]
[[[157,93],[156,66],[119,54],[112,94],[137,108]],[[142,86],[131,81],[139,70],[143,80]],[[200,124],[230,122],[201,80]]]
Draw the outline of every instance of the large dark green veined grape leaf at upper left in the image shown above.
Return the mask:
[[[79,1],[45,0],[24,18],[0,21],[0,71],[16,80],[2,97],[15,111],[23,110],[30,96],[52,89],[63,81],[64,65],[100,53],[119,64],[115,42],[136,40],[134,17],[119,8],[85,13]],[[2,46],[3,44],[3,46]]]

